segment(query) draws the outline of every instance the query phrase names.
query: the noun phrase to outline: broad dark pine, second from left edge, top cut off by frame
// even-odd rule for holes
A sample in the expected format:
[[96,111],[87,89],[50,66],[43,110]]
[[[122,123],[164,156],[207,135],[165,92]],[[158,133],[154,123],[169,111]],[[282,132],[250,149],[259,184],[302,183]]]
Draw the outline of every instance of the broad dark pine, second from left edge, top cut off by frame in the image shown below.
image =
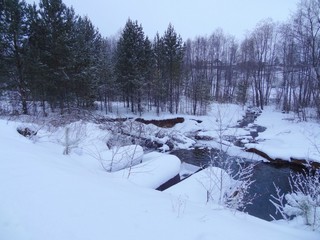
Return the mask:
[[70,68],[75,14],[61,0],[41,0],[39,7],[34,44],[39,48],[43,90],[51,109],[59,106],[62,114],[74,99]]

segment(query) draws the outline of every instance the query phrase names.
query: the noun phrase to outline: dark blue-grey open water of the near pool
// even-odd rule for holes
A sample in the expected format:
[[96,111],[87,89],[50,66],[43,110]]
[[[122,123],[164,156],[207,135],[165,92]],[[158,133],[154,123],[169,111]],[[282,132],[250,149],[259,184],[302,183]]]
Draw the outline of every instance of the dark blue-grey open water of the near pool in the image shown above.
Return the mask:
[[[176,150],[171,154],[176,155],[183,162],[196,166],[208,165],[210,161],[210,153],[205,149]],[[225,157],[227,156],[225,155]],[[244,164],[249,164],[249,161],[245,161]],[[301,171],[301,168],[291,166],[280,167],[264,162],[255,162],[255,164],[252,176],[255,182],[249,190],[250,195],[255,197],[253,198],[252,204],[246,207],[245,212],[267,221],[273,220],[270,214],[276,219],[281,219],[280,215],[275,214],[276,209],[269,201],[271,195],[276,194],[274,184],[276,184],[283,193],[289,192],[290,185],[288,178],[290,172]]]

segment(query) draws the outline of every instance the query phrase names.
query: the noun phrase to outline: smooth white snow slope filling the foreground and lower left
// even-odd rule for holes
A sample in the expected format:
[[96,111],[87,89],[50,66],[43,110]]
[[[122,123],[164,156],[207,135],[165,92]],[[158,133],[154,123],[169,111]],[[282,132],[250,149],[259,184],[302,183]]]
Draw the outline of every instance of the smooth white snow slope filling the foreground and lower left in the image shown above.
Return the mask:
[[[105,147],[100,140],[108,136],[96,126],[86,125],[90,134],[81,134],[84,139],[74,145],[70,155],[63,155],[55,132],[38,129],[36,138],[27,139],[17,133],[19,125],[0,120],[1,240],[318,240],[320,237],[319,232],[181,201],[176,195],[146,188],[156,184],[139,186],[138,182],[148,181],[148,174],[141,174],[135,182],[108,173],[96,153]],[[158,156],[144,155],[146,172],[152,168],[147,163]],[[160,159],[169,162],[167,156]],[[164,164],[170,171],[179,165],[177,159],[172,160],[173,164]],[[143,173],[144,166],[134,175],[138,176],[138,172]]]

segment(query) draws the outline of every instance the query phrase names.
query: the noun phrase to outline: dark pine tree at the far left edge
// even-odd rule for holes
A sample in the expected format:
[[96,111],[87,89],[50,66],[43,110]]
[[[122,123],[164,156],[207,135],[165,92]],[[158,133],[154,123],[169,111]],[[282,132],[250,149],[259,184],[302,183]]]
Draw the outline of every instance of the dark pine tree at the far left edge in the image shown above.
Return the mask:
[[17,91],[22,113],[28,113],[25,53],[28,39],[27,4],[4,0],[0,5],[0,78],[6,90]]

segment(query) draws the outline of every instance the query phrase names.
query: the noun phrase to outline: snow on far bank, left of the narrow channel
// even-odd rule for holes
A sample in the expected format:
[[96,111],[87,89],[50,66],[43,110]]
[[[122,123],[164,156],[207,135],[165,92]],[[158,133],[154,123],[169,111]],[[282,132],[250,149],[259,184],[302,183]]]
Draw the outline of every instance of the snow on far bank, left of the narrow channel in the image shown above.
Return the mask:
[[177,144],[176,147],[180,149],[188,149],[194,146],[216,148],[227,151],[230,156],[260,161],[260,156],[245,152],[242,148],[236,147],[231,142],[224,140],[229,136],[233,136],[234,138],[250,137],[248,129],[235,127],[238,125],[238,121],[245,115],[245,110],[246,108],[236,104],[212,104],[211,110],[206,116],[179,115],[179,117],[184,117],[185,121],[176,124],[171,131],[183,133],[185,136],[196,134],[210,140],[199,140],[195,143],[190,139],[189,145]]

